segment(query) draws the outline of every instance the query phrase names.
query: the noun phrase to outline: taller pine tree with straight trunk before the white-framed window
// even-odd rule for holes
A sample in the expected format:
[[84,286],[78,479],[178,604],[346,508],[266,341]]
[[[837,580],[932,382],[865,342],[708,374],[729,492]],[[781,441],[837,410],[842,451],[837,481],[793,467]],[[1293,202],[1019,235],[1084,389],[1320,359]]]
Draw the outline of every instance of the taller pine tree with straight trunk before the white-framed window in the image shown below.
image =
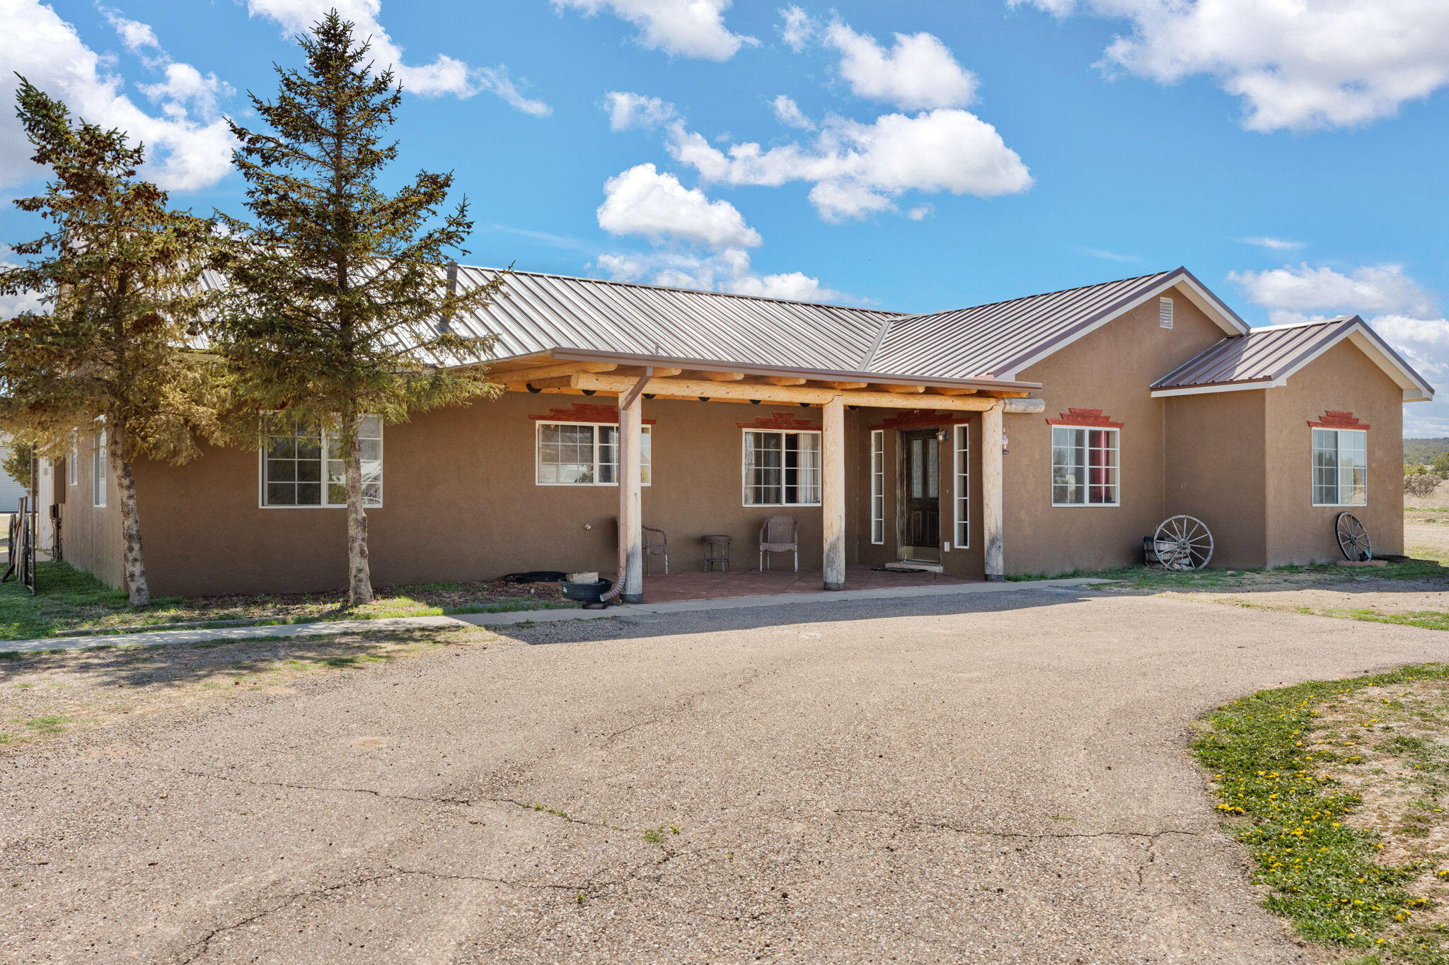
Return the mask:
[[[455,314],[481,308],[500,279],[468,291],[443,284],[443,263],[472,229],[464,200],[439,208],[451,174],[380,185],[397,143],[384,140],[401,88],[372,72],[368,43],[332,10],[298,38],[304,69],[277,68],[277,98],[251,101],[270,130],[232,123],[235,162],[252,221],[222,216],[232,295],[217,350],[258,424],[284,417],[322,427],[345,463],[348,599],[372,599],[358,424],[491,395],[490,341],[456,334]],[[336,485],[336,480],[323,480]]]

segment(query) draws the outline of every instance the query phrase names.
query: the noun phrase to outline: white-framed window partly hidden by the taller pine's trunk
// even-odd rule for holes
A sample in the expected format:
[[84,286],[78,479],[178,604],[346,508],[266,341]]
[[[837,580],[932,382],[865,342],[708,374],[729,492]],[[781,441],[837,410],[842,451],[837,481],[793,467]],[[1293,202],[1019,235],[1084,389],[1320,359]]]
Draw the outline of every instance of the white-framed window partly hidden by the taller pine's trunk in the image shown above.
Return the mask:
[[[362,505],[383,505],[383,420],[358,420],[358,456],[362,462]],[[346,462],[342,440],[316,425],[272,420],[261,460],[262,508],[348,505]]]

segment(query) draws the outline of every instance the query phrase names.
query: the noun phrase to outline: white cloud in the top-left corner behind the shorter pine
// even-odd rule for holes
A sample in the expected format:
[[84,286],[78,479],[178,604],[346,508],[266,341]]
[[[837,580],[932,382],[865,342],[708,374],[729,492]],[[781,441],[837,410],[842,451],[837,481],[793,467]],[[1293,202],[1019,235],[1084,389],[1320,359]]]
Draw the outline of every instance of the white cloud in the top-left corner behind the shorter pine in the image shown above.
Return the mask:
[[[213,74],[201,74],[159,54],[155,33],[146,25],[114,16],[122,22],[117,30],[123,43],[135,43],[138,51],[158,51],[148,65],[164,68],[165,77],[145,85],[142,93],[156,103],[159,114],[139,107],[125,93],[125,80],[112,62],[38,0],[0,0],[0,36],[6,38],[0,101],[14,104],[14,74],[20,74],[65,101],[72,116],[119,127],[132,143],[145,143],[143,174],[162,188],[191,191],[216,184],[232,165],[232,136],[226,122],[214,113],[217,97],[230,88]],[[30,153],[14,111],[0,111],[0,184],[14,185],[41,177],[43,172],[30,163]]]

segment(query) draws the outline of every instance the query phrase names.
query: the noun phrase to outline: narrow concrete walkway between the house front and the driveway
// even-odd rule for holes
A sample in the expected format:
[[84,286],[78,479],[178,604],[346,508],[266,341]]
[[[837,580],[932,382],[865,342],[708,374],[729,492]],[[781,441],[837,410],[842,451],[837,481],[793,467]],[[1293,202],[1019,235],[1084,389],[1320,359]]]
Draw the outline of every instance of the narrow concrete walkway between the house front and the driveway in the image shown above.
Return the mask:
[[1009,583],[961,583],[940,586],[898,586],[874,590],[839,590],[827,593],[780,593],[774,596],[735,596],[719,600],[675,600],[669,603],[632,603],[603,611],[536,609],[509,613],[458,613],[454,616],[394,616],[387,619],[335,619],[314,624],[267,624],[262,626],[216,626],[196,629],[162,629],[132,634],[90,634],[84,637],[42,637],[39,639],[0,641],[0,652],[36,652],[43,650],[91,650],[96,647],[158,647],[162,644],[207,644],[229,639],[258,639],[264,637],[326,637],[330,634],[385,634],[400,629],[448,629],[456,626],[513,626],[517,624],[548,624],[572,619],[610,619],[633,613],[682,613],[690,611],[740,609],[753,606],[787,606],[843,600],[888,600],[913,596],[952,596],[959,593],[1003,593],[1010,590],[1066,589],[1106,583],[1090,577],[1069,580],[1020,580]]

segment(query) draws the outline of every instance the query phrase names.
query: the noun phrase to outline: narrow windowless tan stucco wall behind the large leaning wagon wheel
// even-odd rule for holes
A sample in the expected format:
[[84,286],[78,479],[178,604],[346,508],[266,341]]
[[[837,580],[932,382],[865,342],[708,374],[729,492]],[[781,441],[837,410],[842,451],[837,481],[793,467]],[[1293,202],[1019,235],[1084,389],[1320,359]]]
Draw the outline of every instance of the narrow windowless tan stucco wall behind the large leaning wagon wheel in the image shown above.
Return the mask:
[[1164,515],[1201,519],[1213,534],[1210,566],[1266,566],[1265,391],[1164,399]]

